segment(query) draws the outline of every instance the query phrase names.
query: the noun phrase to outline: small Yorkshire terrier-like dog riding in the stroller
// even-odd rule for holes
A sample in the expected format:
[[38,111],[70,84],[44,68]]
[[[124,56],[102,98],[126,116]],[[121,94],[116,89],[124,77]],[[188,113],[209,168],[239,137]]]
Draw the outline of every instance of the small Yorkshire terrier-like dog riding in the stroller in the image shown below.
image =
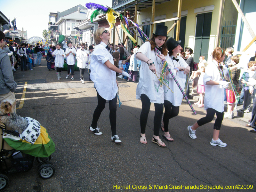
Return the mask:
[[16,106],[15,99],[6,99],[0,103],[0,122],[20,134],[28,127],[28,122],[14,112]]

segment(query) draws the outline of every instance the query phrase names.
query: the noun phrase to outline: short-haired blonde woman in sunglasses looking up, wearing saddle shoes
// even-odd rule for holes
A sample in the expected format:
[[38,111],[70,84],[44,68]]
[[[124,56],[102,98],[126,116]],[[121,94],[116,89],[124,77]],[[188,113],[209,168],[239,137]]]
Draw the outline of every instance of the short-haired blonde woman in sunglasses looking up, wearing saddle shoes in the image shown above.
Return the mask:
[[105,28],[100,27],[95,30],[93,37],[97,45],[92,53],[90,78],[96,88],[98,105],[93,113],[92,124],[89,130],[95,135],[102,135],[97,122],[108,100],[109,120],[112,132],[111,141],[121,143],[121,140],[119,140],[116,134],[116,101],[118,91],[116,72],[122,73],[124,76],[131,76],[114,65],[113,57],[108,49],[106,49],[108,40],[110,39],[109,32]]

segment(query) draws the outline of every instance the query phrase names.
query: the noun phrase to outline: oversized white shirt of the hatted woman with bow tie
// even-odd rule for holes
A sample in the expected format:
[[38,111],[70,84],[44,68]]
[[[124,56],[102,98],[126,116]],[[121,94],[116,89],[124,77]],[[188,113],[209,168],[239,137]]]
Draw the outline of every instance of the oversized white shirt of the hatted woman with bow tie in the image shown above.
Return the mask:
[[[185,89],[185,83],[186,83],[187,76],[186,76],[186,74],[184,74],[184,71],[179,71],[178,73],[176,73],[175,68],[177,68],[177,67],[186,68],[186,67],[188,67],[188,64],[180,56],[177,56],[177,59],[179,59],[179,61],[172,60],[172,57],[173,57],[173,55],[169,56],[170,61],[168,63],[168,67],[172,70],[172,73],[175,76],[175,78],[177,79],[178,83],[180,84],[180,87],[183,89],[183,91],[185,91],[184,89]],[[169,79],[167,77],[166,80],[168,80],[168,82],[169,82],[169,84],[167,84],[168,87],[170,87],[170,89],[173,92],[171,92],[171,90],[168,90],[168,88],[164,85],[164,100],[168,100],[172,103],[173,106],[178,107],[181,105],[183,94],[180,91],[180,88],[178,87],[178,85],[175,83],[175,81],[172,78],[170,73],[169,73]]]

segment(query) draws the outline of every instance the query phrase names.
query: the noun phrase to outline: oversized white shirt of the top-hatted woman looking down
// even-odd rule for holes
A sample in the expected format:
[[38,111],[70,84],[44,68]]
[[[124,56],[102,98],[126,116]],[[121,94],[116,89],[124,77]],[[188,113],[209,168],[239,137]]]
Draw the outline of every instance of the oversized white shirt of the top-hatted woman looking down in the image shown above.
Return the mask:
[[[137,60],[139,59],[136,57],[136,55],[139,52],[143,55],[146,55],[148,59],[151,59],[155,63],[156,75],[160,77],[162,61],[160,60],[159,57],[155,55],[155,51],[151,50],[150,43],[146,42],[142,44],[140,49],[134,54],[134,57]],[[165,59],[167,60],[167,63],[169,63],[168,54],[165,56]],[[157,62],[161,64],[157,64]],[[148,64],[146,62],[141,61],[140,80],[136,89],[136,99],[140,99],[140,95],[145,94],[148,96],[151,103],[164,103],[164,87],[162,86],[158,88],[159,81],[156,75],[149,69]],[[156,88],[158,88],[158,91],[156,90],[155,86]]]

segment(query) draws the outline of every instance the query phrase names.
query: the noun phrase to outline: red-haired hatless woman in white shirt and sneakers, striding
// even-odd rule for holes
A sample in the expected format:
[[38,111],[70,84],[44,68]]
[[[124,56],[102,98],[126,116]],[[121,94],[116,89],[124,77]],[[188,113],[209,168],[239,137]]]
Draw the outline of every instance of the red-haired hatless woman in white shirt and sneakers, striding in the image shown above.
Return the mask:
[[194,125],[188,126],[189,137],[196,139],[196,129],[213,120],[216,113],[216,120],[213,126],[213,138],[210,142],[212,146],[226,147],[227,144],[219,139],[220,126],[224,116],[224,90],[229,82],[224,80],[228,69],[220,63],[225,59],[225,49],[217,47],[212,52],[212,61],[205,68],[204,74],[204,110],[206,116],[199,119]]

